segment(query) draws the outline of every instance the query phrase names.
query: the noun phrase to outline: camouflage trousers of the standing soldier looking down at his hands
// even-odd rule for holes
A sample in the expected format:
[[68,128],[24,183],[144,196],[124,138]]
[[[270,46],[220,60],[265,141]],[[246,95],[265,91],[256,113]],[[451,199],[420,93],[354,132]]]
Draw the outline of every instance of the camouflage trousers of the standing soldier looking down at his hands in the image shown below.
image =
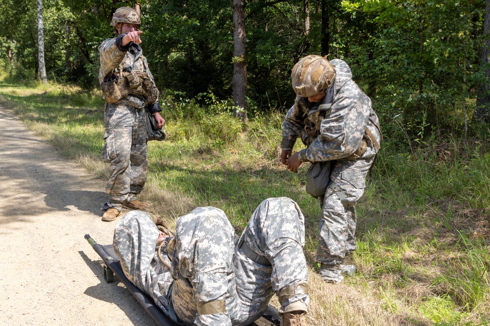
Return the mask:
[[[377,130],[376,138],[379,139]],[[326,281],[339,283],[343,280],[343,272],[355,272],[350,257],[357,248],[357,216],[354,205],[364,195],[366,176],[374,162],[375,154],[376,149],[368,146],[359,159],[344,158],[331,161],[330,181],[339,186],[347,202],[344,207],[341,198],[330,187],[327,187],[324,196],[319,197],[322,211],[316,260],[329,267],[320,269],[320,274]]]

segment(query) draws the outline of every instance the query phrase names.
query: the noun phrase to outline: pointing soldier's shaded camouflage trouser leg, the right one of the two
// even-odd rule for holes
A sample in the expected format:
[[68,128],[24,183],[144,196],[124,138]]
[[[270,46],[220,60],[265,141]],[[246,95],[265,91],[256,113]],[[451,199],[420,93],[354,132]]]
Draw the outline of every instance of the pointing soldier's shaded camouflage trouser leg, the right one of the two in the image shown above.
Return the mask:
[[148,153],[147,153],[147,122],[146,110],[135,110],[135,126],[132,130],[132,139],[137,142],[131,146],[131,181],[130,194],[128,201],[134,200],[135,195],[141,193],[145,186],[148,173]]

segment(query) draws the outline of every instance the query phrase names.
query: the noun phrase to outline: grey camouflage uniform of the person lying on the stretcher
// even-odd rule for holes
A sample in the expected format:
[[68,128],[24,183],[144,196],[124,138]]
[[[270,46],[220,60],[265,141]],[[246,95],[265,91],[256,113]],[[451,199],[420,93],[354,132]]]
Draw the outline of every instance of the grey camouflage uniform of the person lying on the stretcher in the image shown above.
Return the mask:
[[189,326],[245,326],[260,318],[274,293],[281,312],[306,311],[304,217],[293,200],[263,201],[239,241],[271,265],[249,259],[241,243],[235,247],[233,227],[214,207],[198,207],[179,217],[176,234],[168,268],[155,254],[159,232],[147,213],[127,213],[114,231],[114,250],[124,273],[165,314],[174,311]]

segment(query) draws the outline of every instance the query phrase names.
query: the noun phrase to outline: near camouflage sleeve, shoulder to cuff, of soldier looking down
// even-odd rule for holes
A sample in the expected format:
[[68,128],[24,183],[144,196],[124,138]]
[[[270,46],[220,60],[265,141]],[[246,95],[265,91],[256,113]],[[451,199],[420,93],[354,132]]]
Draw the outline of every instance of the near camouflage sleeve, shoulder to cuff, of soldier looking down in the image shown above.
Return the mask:
[[299,152],[302,162],[336,160],[351,155],[359,147],[368,124],[371,100],[353,80],[347,81],[334,97],[320,134]]

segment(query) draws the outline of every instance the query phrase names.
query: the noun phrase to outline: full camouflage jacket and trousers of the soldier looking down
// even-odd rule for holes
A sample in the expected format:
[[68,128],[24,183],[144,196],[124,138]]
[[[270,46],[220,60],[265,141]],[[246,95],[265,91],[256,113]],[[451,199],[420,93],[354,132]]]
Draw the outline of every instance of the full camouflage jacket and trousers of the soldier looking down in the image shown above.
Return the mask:
[[[341,282],[342,271],[338,265],[346,255],[356,249],[354,205],[364,194],[366,175],[377,152],[374,144],[366,137],[365,130],[368,127],[378,143],[380,132],[378,117],[371,109],[371,100],[352,80],[349,66],[338,59],[330,63],[336,72],[331,86],[331,106],[323,116],[308,115],[311,108],[305,104],[307,101],[297,96],[283,123],[282,149],[292,150],[294,142],[300,138],[308,146],[298,153],[300,161],[331,161],[330,180],[343,191],[347,204],[344,207],[339,196],[330,187],[327,187],[325,196],[320,197],[322,216],[316,259],[320,263],[336,266],[332,270],[321,271],[325,280]],[[322,101],[328,101],[328,96]],[[318,134],[308,134],[305,130],[307,125],[318,125]],[[363,139],[367,144],[366,152],[359,157],[353,153],[360,147]]]

